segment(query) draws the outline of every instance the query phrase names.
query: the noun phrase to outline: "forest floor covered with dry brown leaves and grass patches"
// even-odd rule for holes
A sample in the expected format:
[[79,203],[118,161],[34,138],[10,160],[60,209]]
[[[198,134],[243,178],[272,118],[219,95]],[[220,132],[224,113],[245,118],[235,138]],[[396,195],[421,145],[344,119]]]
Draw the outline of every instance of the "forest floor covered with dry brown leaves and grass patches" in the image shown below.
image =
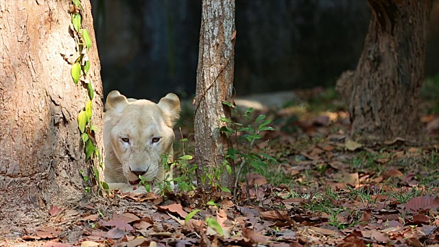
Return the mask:
[[[259,133],[250,149],[276,162],[254,159],[267,167],[248,172],[237,196],[89,196],[51,207],[47,220],[0,237],[0,246],[439,246],[438,89],[423,89],[423,143],[346,141],[347,107],[335,92],[298,91],[252,113],[250,122],[263,114],[276,130]],[[189,144],[177,141],[176,157],[193,154],[191,123],[189,111],[176,132]]]

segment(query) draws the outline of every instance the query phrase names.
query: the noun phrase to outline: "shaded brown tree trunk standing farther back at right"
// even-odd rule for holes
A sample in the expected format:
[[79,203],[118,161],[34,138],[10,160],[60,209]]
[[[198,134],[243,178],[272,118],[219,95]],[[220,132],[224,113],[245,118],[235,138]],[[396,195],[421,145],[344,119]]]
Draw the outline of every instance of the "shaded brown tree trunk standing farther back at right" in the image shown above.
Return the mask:
[[337,82],[349,99],[351,137],[415,141],[431,0],[368,2],[373,16],[357,69]]

